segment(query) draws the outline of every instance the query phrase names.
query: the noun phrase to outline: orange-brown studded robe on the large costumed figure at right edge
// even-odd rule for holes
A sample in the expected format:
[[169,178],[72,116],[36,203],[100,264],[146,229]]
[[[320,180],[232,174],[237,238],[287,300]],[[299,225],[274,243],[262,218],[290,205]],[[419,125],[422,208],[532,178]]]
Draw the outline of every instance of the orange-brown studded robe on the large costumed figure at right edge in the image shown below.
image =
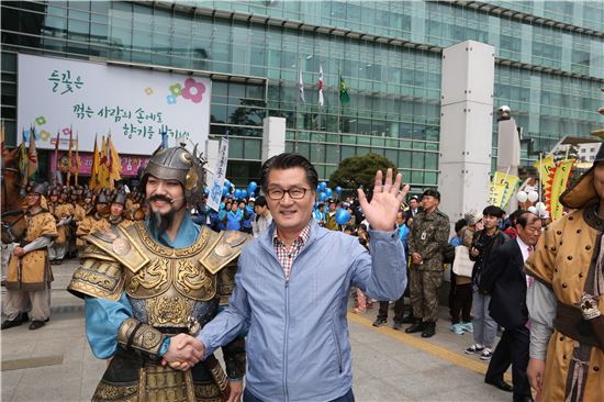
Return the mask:
[[[556,299],[567,305],[578,305],[581,300],[588,272],[595,269],[593,265],[597,256],[594,256],[594,252],[599,248],[596,242],[600,242],[604,228],[604,222],[597,223],[596,219],[590,219],[586,209],[577,210],[551,223],[526,261],[528,273],[549,287]],[[600,299],[600,311],[604,312],[604,298]],[[547,348],[541,401],[567,399],[571,382],[569,376],[573,375],[570,368],[575,345],[579,345],[575,339],[553,331]],[[589,356],[583,401],[602,401],[604,351],[591,347]]]

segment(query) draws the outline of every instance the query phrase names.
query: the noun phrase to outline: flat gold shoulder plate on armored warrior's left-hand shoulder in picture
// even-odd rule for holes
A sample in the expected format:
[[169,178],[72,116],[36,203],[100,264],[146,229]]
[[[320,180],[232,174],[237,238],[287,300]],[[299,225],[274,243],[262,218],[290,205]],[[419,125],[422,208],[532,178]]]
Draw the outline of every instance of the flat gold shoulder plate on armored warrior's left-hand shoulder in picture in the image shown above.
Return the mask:
[[85,236],[85,239],[103,253],[113,257],[132,272],[137,272],[149,258],[133,238],[135,227],[112,226],[104,232],[94,232]]

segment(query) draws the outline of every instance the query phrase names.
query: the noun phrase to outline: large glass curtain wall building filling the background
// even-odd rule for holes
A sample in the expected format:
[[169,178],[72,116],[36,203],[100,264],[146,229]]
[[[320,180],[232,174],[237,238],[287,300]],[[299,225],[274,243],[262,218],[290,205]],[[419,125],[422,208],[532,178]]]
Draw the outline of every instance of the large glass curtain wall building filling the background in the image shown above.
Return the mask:
[[[310,157],[322,179],[342,159],[372,152],[396,164],[414,189],[436,186],[446,152],[441,51],[466,40],[495,47],[494,105],[512,108],[533,150],[603,125],[599,1],[3,1],[1,8],[9,145],[18,130],[18,53],[210,76],[210,133],[228,131],[228,176],[236,182],[257,178],[262,119],[271,115],[287,119],[287,150]],[[348,104],[339,102],[339,75]],[[484,135],[496,144],[495,120]],[[527,150],[525,144],[524,165],[536,158]]]

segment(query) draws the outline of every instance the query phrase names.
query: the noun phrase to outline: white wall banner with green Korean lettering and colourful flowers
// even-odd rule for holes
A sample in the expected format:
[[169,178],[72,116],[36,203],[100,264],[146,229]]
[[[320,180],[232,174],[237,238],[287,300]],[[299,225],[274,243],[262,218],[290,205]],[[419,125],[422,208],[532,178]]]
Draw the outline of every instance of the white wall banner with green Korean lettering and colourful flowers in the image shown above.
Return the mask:
[[170,146],[208,139],[208,78],[20,54],[18,86],[18,130],[29,138],[35,123],[38,148],[54,149],[57,131],[68,147],[70,126],[86,152],[96,134],[111,133],[120,153],[137,155],[152,154],[163,130]]

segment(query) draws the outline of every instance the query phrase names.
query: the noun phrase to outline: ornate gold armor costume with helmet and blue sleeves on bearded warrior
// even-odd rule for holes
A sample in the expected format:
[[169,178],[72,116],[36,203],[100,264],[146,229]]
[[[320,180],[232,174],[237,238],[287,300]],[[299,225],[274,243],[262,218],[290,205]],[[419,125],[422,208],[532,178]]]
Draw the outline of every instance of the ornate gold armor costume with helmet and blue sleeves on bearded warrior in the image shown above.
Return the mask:
[[[203,192],[197,152],[160,149],[142,178],[177,180],[187,204]],[[222,401],[228,380],[245,375],[245,340],[223,347],[226,373],[214,356],[179,371],[161,366],[169,337],[194,335],[226,304],[237,258],[249,236],[195,225],[189,212],[174,241],[150,216],[85,236],[88,247],[68,290],[86,300],[86,331],[99,358],[110,358],[92,401]],[[228,377],[228,378],[227,378]]]

